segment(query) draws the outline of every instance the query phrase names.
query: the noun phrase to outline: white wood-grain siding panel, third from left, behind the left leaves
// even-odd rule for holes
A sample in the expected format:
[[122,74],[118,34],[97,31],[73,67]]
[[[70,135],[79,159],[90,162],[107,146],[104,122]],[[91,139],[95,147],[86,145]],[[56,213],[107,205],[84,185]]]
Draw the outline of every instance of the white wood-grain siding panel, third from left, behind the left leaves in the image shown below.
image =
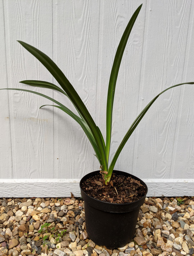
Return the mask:
[[[75,87],[95,119],[98,67],[99,1],[53,3],[54,61]],[[68,99],[54,93],[58,101],[72,108]],[[70,116],[55,110],[55,170],[58,178],[81,178],[99,164],[94,151]]]

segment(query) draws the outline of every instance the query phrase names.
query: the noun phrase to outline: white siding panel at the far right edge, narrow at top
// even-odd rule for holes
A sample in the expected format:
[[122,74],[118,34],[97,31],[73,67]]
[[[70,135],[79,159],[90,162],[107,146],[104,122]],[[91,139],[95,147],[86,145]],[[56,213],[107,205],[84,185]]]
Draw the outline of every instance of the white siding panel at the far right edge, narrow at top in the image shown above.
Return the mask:
[[[191,3],[183,73],[183,81],[185,82],[194,81],[194,2],[192,1]],[[194,178],[193,97],[194,85],[185,85],[181,88],[171,178]]]

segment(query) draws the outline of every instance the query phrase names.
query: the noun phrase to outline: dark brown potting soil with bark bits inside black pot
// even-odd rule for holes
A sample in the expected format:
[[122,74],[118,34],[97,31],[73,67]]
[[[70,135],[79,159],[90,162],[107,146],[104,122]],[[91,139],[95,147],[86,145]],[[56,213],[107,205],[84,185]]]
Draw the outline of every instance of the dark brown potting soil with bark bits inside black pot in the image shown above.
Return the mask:
[[112,174],[108,185],[104,184],[99,172],[94,177],[85,180],[81,188],[95,199],[116,204],[137,201],[146,193],[146,188],[138,180],[115,173]]

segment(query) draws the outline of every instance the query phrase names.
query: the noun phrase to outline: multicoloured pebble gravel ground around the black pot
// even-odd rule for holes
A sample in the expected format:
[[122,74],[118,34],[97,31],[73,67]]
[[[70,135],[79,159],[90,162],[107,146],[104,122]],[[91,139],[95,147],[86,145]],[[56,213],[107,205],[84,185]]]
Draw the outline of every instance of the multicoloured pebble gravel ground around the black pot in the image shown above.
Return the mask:
[[194,197],[146,198],[133,241],[110,250],[85,230],[80,198],[0,198],[0,256],[194,255]]

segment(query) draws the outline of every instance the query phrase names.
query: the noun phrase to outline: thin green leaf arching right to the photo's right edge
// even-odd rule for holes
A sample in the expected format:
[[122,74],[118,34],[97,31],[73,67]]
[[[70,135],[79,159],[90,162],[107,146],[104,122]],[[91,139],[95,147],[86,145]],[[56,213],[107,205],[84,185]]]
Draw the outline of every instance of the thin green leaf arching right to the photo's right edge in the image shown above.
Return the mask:
[[109,166],[109,169],[108,169],[108,174],[107,174],[107,180],[106,182],[109,182],[110,181],[110,177],[112,175],[112,172],[113,172],[113,169],[114,169],[114,165],[118,159],[118,156],[120,154],[120,152],[122,151],[124,145],[126,144],[126,142],[128,141],[129,137],[131,136],[131,134],[133,133],[133,131],[135,130],[135,128],[137,127],[137,125],[139,124],[139,122],[141,121],[141,119],[143,118],[143,116],[146,114],[146,112],[148,111],[148,109],[151,107],[151,105],[153,104],[153,102],[155,102],[155,100],[162,94],[164,93],[165,91],[173,88],[173,87],[176,87],[176,86],[180,86],[180,85],[183,85],[183,84],[194,84],[194,82],[188,82],[188,83],[179,83],[179,84],[175,84],[167,89],[165,89],[164,91],[160,92],[156,97],[153,98],[153,100],[150,101],[150,103],[147,104],[147,106],[141,111],[141,113],[137,116],[137,118],[134,120],[134,122],[132,123],[131,127],[129,128],[129,130],[127,131],[126,135],[124,136],[122,142],[120,143],[118,149],[117,149],[117,152],[115,153],[114,157],[113,157],[113,160]]

